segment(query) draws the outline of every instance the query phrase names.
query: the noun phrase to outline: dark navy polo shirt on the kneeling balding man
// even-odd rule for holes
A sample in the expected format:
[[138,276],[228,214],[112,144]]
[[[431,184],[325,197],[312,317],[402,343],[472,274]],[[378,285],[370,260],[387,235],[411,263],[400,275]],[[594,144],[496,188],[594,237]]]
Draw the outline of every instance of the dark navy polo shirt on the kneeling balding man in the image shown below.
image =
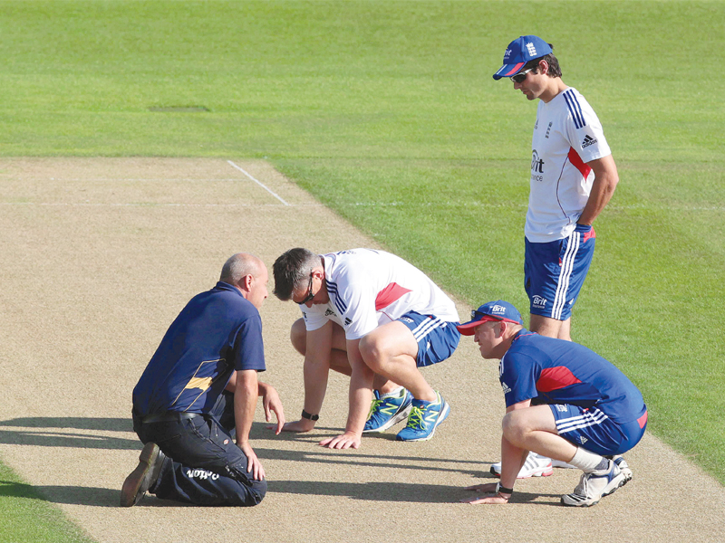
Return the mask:
[[262,319],[240,291],[219,281],[171,324],[133,389],[133,406],[141,416],[208,413],[235,369],[265,371]]

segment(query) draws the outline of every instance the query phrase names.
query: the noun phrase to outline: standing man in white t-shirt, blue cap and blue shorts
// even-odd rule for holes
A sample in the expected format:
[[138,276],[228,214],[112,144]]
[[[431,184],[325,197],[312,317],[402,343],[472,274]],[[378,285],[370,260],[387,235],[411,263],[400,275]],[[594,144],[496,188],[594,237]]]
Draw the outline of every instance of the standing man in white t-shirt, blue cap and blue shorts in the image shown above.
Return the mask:
[[[561,77],[552,45],[533,35],[509,43],[493,75],[509,78],[527,100],[539,100],[525,228],[529,329],[571,341],[572,308],[594,256],[592,224],[619,176],[594,110]],[[500,464],[491,472],[498,474]],[[549,459],[531,454],[519,477],[549,474]]]

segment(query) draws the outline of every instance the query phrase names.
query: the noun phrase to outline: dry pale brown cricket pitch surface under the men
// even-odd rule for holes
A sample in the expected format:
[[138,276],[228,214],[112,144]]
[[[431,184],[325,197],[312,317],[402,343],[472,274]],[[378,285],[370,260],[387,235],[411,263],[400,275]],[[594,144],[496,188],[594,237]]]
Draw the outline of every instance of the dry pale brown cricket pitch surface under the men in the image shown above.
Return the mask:
[[[396,443],[390,432],[364,438],[358,451],[318,447],[345,421],[346,382],[333,376],[312,434],[275,437],[259,408],[252,443],[269,480],[260,506],[147,497],[121,509],[121,482],[140,451],[131,389],[171,320],[215,284],[226,258],[254,252],[271,265],[299,245],[375,243],[262,161],[4,159],[0,209],[0,456],[98,541],[725,538],[723,488],[651,435],[626,455],[633,481],[594,508],[558,505],[578,481],[571,470],[519,481],[506,507],[458,503],[463,486],[490,481],[503,413],[498,365],[469,338],[426,370],[451,404],[430,442]],[[265,380],[289,419],[302,408],[301,360],[287,341],[297,314],[274,297],[262,309]]]

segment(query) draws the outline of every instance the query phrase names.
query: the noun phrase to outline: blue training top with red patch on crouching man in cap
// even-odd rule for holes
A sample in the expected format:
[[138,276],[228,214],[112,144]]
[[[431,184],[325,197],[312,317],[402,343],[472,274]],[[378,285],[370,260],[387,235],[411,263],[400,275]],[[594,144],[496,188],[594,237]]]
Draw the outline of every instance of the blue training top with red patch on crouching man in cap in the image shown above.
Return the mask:
[[629,423],[646,411],[639,389],[592,349],[522,329],[501,358],[507,407],[536,398],[543,404],[596,406],[614,422]]

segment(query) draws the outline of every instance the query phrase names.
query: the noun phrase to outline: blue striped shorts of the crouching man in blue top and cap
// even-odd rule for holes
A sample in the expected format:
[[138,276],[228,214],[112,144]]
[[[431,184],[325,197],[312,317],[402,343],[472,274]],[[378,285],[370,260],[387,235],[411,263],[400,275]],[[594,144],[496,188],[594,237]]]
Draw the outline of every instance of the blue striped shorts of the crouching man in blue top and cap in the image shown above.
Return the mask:
[[647,428],[647,412],[631,423],[615,423],[596,407],[551,404],[556,431],[566,441],[590,452],[622,454],[640,443]]

